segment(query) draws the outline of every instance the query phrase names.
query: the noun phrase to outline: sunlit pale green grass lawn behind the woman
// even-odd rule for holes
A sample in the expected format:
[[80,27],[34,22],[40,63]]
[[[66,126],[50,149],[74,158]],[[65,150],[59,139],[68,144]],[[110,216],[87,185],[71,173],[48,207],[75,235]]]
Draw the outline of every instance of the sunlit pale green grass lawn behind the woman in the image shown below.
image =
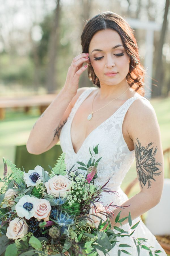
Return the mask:
[[[170,146],[170,101],[169,98],[153,99],[150,103],[155,109],[158,123],[160,125],[162,147],[163,149]],[[29,133],[39,117],[40,113],[37,108],[32,108],[27,114],[20,111],[7,110],[3,121],[0,121],[0,175],[3,173],[2,156],[14,162],[15,146],[26,144]],[[122,189],[136,177],[135,161],[133,162],[128,174],[122,182]],[[167,177],[167,160],[165,161],[165,177]],[[131,191],[130,197],[139,192],[137,183]]]

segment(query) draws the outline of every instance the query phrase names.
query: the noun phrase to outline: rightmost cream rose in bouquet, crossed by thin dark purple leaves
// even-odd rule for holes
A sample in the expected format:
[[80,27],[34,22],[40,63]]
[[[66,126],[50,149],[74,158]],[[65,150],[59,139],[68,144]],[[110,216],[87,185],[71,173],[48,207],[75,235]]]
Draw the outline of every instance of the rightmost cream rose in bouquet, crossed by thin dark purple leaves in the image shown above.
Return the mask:
[[[106,209],[105,209],[105,207],[101,204],[101,203],[99,203],[99,202],[94,202],[94,204],[95,204],[95,206],[96,206],[96,212],[95,212],[95,208],[94,208],[94,205],[93,204],[91,204],[90,205],[90,212],[89,212],[89,217],[92,219],[89,219],[88,218],[88,221],[87,221],[87,223],[90,225],[90,226],[92,226],[92,227],[94,227],[94,228],[98,228],[98,226],[99,226],[99,223],[100,223],[100,218],[102,218],[102,223],[104,222],[104,221],[106,221],[106,219],[107,219],[107,216],[105,216],[106,214],[105,214],[105,212],[106,212]],[[101,212],[101,213],[100,213]],[[94,215],[92,215],[92,214],[95,214],[95,216]],[[98,218],[98,217],[100,217],[100,218]]]

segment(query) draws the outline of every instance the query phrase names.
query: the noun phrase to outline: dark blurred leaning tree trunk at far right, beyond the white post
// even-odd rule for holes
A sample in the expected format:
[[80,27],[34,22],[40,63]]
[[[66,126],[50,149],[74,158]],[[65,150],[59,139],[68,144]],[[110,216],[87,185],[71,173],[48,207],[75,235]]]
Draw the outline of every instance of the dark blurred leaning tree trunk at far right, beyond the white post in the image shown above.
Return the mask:
[[163,48],[163,43],[164,43],[165,33],[167,28],[168,9],[169,9],[169,0],[166,0],[162,30],[161,30],[160,40],[158,44],[158,51],[156,51],[157,58],[156,58],[156,69],[155,69],[154,79],[158,82],[158,87],[153,86],[152,97],[160,96],[162,91],[162,86],[163,86],[162,48]]

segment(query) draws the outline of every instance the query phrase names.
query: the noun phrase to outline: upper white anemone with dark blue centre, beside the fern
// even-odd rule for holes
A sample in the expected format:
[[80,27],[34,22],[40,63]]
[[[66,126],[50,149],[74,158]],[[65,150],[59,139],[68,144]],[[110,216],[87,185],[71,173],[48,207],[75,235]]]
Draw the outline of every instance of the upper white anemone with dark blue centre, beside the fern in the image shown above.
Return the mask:
[[[47,171],[46,173],[48,174]],[[34,170],[29,170],[28,173],[24,172],[24,177],[27,187],[36,186],[37,180],[42,180],[42,167],[37,165]]]

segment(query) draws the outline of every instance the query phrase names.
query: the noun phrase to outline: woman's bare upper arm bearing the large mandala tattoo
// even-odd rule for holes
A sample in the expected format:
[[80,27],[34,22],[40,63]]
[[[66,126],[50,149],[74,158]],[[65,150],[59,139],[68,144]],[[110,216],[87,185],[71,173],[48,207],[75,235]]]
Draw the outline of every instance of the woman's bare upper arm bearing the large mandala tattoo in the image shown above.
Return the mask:
[[[161,133],[150,102],[137,99],[130,112],[129,136],[135,149],[136,170],[141,192],[160,201],[164,180],[164,160]],[[147,199],[147,198],[146,198]]]

